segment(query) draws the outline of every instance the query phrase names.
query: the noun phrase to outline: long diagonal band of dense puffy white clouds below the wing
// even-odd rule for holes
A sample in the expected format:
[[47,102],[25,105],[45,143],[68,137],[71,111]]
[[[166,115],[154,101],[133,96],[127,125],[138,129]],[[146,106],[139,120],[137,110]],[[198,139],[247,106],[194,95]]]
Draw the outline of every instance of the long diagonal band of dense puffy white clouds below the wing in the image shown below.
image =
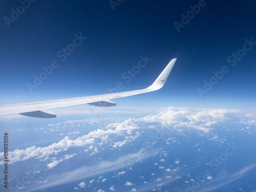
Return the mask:
[[[159,126],[161,126],[168,127],[168,129],[170,130],[173,129],[179,131],[183,129],[191,129],[200,131],[202,133],[209,133],[211,129],[214,129],[214,125],[230,119],[228,117],[230,114],[236,115],[239,113],[241,112],[238,110],[188,109],[169,107],[163,111],[160,111],[156,115],[149,115],[140,118],[130,118],[122,122],[109,123],[103,129],[91,131],[87,135],[80,136],[76,139],[70,139],[68,136],[66,136],[59,142],[53,143],[45,147],[31,146],[25,148],[24,150],[19,150],[17,148],[16,150],[9,152],[9,160],[10,163],[14,163],[18,161],[24,161],[29,158],[42,159],[63,151],[67,151],[70,147],[92,145],[96,143],[96,139],[99,139],[97,140],[97,142],[100,141],[101,143],[106,143],[108,142],[110,135],[127,134],[124,140],[116,141],[114,144],[112,144],[113,148],[122,147],[123,145],[135,140],[141,135],[141,133],[139,132],[136,132],[135,135],[131,135],[133,131],[141,129],[156,129],[156,125],[158,125],[157,129],[159,129]],[[246,114],[243,117],[247,117],[247,119],[243,118],[240,120],[240,122],[249,125],[254,124],[256,119],[254,114]],[[83,120],[68,120],[63,123],[49,124],[49,126],[60,127],[63,126],[63,124],[67,123],[83,123]],[[148,123],[152,123],[152,125],[145,126],[145,124]],[[97,148],[94,148],[94,150],[94,153],[98,152]],[[4,153],[0,153],[0,158],[4,158]],[[65,160],[65,158],[58,161],[55,160],[51,162],[48,167],[52,168],[63,160]],[[2,160],[1,164],[3,163],[4,162]]]

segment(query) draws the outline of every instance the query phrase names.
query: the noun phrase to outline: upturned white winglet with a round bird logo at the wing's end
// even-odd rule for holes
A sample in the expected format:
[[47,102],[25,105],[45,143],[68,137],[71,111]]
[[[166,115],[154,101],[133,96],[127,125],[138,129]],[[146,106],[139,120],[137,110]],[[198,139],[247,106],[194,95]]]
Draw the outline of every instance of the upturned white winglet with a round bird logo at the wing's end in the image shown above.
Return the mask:
[[170,71],[172,71],[172,69],[174,67],[174,63],[175,63],[176,59],[177,58],[172,59],[169,62],[169,64],[165,67],[165,69],[162,71],[162,73],[157,77],[155,82],[153,82],[153,84],[150,87],[146,88],[147,90],[156,91],[163,87],[166,79],[169,76]]

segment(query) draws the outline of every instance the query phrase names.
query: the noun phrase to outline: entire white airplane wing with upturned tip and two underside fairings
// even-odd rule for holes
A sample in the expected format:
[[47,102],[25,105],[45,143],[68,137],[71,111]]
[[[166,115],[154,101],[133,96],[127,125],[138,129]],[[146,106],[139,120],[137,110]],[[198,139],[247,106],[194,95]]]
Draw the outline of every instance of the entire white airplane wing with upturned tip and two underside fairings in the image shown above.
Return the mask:
[[154,83],[150,87],[147,87],[145,89],[126,91],[120,93],[111,93],[105,95],[95,95],[88,97],[76,97],[69,99],[0,104],[0,116],[20,114],[29,117],[54,118],[56,117],[56,115],[49,111],[50,109],[62,108],[64,106],[72,106],[85,103],[94,106],[115,106],[116,103],[114,103],[110,99],[152,92],[162,88],[170,71],[173,69],[176,59],[177,58],[172,59],[165,67],[165,69],[162,71],[162,73],[158,76],[158,78],[154,81]]

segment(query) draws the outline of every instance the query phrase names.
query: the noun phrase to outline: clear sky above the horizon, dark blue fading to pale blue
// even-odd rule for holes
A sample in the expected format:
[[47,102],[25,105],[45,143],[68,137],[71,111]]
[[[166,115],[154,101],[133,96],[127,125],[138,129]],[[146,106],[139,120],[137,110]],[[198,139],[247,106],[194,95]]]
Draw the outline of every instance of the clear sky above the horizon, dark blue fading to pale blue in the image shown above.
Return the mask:
[[[177,57],[161,90],[114,102],[120,106],[256,106],[255,1],[113,0],[112,4],[121,2],[114,8],[109,1],[22,2],[27,8],[18,1],[0,3],[1,103],[106,94],[117,82],[122,83],[119,91],[142,89]],[[175,22],[182,27],[177,30]],[[74,41],[75,34],[87,38]],[[134,77],[127,77],[131,76],[127,70],[135,69],[145,55],[152,60]],[[29,90],[34,75],[39,77],[42,67],[54,60],[55,68]],[[217,73],[218,79],[212,72],[221,69],[225,73]]]

